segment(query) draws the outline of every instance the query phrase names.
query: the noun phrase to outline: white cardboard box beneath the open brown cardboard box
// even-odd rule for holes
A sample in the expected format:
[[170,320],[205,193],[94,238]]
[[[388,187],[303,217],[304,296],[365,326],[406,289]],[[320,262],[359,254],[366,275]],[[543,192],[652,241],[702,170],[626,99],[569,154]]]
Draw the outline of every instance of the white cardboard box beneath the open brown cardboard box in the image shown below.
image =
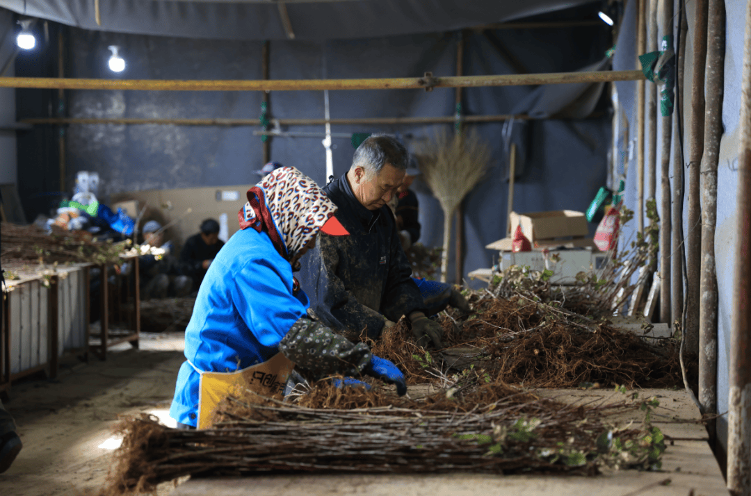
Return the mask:
[[501,270],[514,265],[529,266],[529,269],[539,272],[552,270],[551,284],[575,284],[579,272],[592,270],[592,250],[554,250],[547,254],[542,251],[503,251],[499,262]]

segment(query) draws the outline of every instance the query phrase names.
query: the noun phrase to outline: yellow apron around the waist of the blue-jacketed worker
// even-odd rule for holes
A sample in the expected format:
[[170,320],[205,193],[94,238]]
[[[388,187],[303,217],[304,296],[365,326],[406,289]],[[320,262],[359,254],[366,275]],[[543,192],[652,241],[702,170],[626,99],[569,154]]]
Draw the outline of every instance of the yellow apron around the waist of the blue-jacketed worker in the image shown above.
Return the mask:
[[282,353],[276,353],[266,362],[234,372],[201,371],[190,361],[189,363],[201,374],[198,386],[198,428],[211,427],[219,401],[236,392],[238,386],[269,398],[281,397],[287,378],[294,368],[294,362]]

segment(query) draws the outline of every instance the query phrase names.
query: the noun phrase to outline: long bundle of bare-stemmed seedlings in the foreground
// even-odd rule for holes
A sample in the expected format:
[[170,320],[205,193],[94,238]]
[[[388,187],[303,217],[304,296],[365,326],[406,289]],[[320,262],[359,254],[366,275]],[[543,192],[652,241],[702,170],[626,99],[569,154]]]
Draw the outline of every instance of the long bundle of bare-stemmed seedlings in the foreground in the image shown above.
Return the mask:
[[[647,403],[654,406],[654,402]],[[418,400],[374,386],[320,381],[297,404],[238,391],[213,428],[172,429],[146,415],[122,423],[106,494],[152,491],[185,475],[251,473],[571,473],[655,468],[664,450],[650,426],[614,427],[633,401],[566,405],[463,374]]]

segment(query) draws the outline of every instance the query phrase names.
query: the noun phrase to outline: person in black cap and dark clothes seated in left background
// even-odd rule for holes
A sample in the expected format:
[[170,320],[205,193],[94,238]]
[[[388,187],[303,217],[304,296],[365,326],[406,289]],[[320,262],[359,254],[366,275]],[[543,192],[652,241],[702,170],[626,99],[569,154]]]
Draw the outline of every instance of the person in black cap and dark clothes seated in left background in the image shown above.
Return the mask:
[[[146,245],[157,248],[170,248],[171,242],[164,243],[161,224],[148,221],[143,224],[143,238]],[[180,275],[175,257],[169,252],[163,255],[146,254],[138,257],[141,299],[167,298],[167,296],[188,296],[193,281]]]

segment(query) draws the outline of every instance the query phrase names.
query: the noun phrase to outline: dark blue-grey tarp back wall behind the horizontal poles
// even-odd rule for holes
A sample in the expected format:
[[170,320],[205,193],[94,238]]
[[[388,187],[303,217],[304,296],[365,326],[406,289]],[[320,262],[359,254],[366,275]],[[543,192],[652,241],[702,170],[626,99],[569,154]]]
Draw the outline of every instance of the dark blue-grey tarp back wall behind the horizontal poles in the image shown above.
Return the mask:
[[[594,13],[590,14],[592,18]],[[581,19],[579,15],[579,19]],[[603,25],[605,26],[605,25]],[[606,26],[605,26],[606,28]],[[494,34],[529,72],[575,71],[602,60],[608,49],[607,29],[499,30]],[[52,37],[54,38],[54,36]],[[70,29],[69,77],[113,77],[106,68],[107,46],[122,47],[127,68],[119,77],[134,79],[249,79],[261,78],[261,43],[257,41],[207,41],[163,38]],[[458,35],[401,35],[339,41],[272,41],[272,79],[419,76],[425,71],[453,75]],[[30,56],[18,68],[32,71]],[[54,65],[53,65],[54,66]],[[465,74],[510,74],[514,71],[479,33],[466,44]],[[53,75],[53,74],[50,74]],[[533,88],[499,87],[466,89],[464,110],[470,115],[509,113]],[[56,92],[54,92],[56,93]],[[53,92],[19,90],[19,117],[47,116],[55,109]],[[50,96],[52,95],[52,96]],[[346,117],[451,116],[454,89],[330,92],[330,115]],[[40,104],[41,102],[42,104]],[[242,117],[260,114],[261,94],[256,92],[68,92],[71,117]],[[272,92],[270,113],[276,118],[322,118],[323,92]],[[54,115],[54,111],[53,111]],[[507,182],[502,153],[502,123],[475,125],[493,150],[487,180],[466,199],[465,274],[490,267],[494,254],[484,248],[504,236]],[[21,196],[29,216],[41,203],[38,152],[52,138],[33,138],[44,126],[19,141]],[[52,128],[47,126],[46,128]],[[605,157],[610,139],[607,116],[579,121],[533,122],[525,172],[516,185],[514,208],[518,212],[547,209],[584,210],[605,184]],[[261,140],[257,128],[188,127],[175,125],[71,125],[67,131],[66,190],[77,170],[98,171],[104,192],[149,188],[186,188],[253,183],[252,172],[261,166]],[[316,131],[321,137],[282,138],[271,142],[271,158],[294,165],[319,184],[324,183],[325,158],[321,145],[324,127],[294,127],[289,131]],[[430,127],[333,126],[333,132],[399,132],[407,146],[430,134]],[[56,135],[55,135],[56,136]],[[36,139],[36,141],[33,141]],[[23,143],[29,143],[28,146]],[[348,169],[354,149],[350,140],[335,138],[333,164],[336,175]],[[47,143],[55,149],[55,143]],[[49,188],[47,187],[48,191]],[[436,200],[419,194],[426,245],[441,245],[442,212]],[[41,209],[44,210],[44,209]],[[36,208],[36,212],[40,209]],[[452,248],[453,250],[453,248]],[[452,251],[453,254],[453,251]],[[450,264],[453,278],[454,263]]]

